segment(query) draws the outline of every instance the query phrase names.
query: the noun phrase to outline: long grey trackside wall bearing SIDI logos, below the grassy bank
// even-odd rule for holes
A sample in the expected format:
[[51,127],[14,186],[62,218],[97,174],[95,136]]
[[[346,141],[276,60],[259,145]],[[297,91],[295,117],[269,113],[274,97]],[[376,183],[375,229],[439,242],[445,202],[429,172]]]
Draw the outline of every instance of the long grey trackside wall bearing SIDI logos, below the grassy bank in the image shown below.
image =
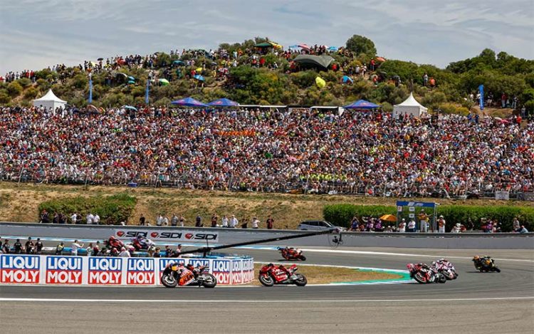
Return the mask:
[[[107,226],[0,222],[0,236],[21,238],[48,237],[51,239],[104,240],[115,236],[130,241],[145,236],[157,244],[189,244],[214,246],[235,244],[282,236],[295,236],[310,231],[280,229],[224,229],[211,227],[174,226]],[[342,242],[333,241],[331,234],[308,236],[286,241],[273,241],[274,246],[370,246],[431,249],[534,249],[534,233],[389,233],[343,232]],[[260,246],[264,245],[263,243]]]

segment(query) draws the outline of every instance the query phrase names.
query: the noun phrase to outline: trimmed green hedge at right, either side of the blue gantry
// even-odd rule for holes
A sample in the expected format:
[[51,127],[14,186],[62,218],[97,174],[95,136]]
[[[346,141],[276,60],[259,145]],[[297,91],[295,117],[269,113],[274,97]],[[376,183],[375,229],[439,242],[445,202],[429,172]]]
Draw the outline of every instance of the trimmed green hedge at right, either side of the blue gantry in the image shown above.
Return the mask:
[[[325,220],[345,227],[350,225],[353,216],[379,217],[396,213],[396,207],[384,205],[333,204],[323,208]],[[438,215],[444,216],[447,231],[456,223],[467,226],[469,219],[475,224],[475,229],[481,229],[481,218],[497,220],[503,231],[512,230],[514,217],[529,231],[534,227],[534,207],[442,205],[438,207]]]

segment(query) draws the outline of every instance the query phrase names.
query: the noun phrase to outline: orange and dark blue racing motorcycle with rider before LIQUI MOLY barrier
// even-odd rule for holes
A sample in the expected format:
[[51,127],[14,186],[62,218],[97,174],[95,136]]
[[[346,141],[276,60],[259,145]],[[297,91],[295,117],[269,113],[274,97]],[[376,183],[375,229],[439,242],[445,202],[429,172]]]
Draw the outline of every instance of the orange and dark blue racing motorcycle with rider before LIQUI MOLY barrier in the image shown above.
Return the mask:
[[178,263],[169,263],[165,267],[161,282],[167,288],[176,286],[214,288],[217,285],[217,279],[209,273],[209,267],[179,266]]

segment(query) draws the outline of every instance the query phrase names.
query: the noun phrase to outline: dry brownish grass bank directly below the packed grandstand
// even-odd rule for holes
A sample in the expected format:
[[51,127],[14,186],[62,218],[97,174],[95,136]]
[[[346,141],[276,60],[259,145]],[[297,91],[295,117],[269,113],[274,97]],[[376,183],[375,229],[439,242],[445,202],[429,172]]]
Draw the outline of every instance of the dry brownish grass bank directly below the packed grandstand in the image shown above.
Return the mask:
[[[141,214],[148,221],[155,222],[158,214],[182,214],[187,225],[194,225],[194,219],[201,215],[204,224],[216,213],[235,214],[239,221],[253,216],[261,220],[263,227],[268,214],[276,221],[277,228],[295,228],[305,219],[322,219],[325,204],[382,204],[394,205],[396,199],[377,197],[355,197],[342,195],[264,194],[251,192],[208,192],[169,188],[88,187],[48,184],[20,184],[0,182],[0,221],[37,221],[38,206],[42,202],[73,197],[95,197],[127,193],[137,199],[129,224],[137,224]],[[534,207],[534,202],[507,202],[488,200],[453,201],[436,199],[440,204],[463,205],[518,205]],[[72,214],[72,212],[65,212]]]

